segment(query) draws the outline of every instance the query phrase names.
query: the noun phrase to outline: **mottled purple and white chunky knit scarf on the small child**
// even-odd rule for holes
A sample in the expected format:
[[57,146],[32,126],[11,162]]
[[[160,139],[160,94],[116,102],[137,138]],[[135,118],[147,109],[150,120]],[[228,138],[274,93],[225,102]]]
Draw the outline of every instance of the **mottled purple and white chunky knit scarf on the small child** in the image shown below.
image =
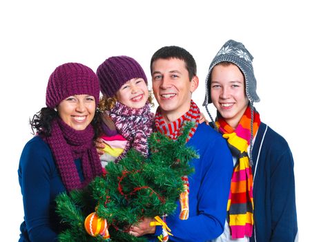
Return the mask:
[[154,115],[150,104],[146,102],[141,109],[133,109],[116,102],[113,109],[106,113],[113,120],[119,134],[128,140],[124,152],[117,160],[123,158],[131,147],[143,156],[148,156],[148,137],[154,129]]

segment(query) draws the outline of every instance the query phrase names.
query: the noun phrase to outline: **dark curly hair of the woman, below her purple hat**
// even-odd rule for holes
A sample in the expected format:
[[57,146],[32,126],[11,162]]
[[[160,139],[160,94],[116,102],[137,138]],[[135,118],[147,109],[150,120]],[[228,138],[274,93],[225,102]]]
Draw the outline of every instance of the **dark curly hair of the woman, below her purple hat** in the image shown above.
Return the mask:
[[[59,117],[58,112],[55,111],[54,109],[48,107],[42,108],[39,112],[33,115],[32,120],[29,120],[32,129],[32,134],[37,133],[39,136],[43,137],[50,136],[52,131],[52,121],[58,117]],[[100,122],[101,122],[100,112],[98,109],[96,109],[95,117],[91,122],[95,131],[94,139],[98,138],[102,133]]]

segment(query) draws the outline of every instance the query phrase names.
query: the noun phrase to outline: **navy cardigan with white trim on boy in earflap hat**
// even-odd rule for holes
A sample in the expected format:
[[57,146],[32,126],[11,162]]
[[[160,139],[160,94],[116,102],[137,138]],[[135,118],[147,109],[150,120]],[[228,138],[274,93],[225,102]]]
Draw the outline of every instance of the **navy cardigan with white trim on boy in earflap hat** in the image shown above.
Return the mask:
[[293,242],[298,227],[294,164],[289,145],[261,123],[252,155],[254,230],[250,241]]

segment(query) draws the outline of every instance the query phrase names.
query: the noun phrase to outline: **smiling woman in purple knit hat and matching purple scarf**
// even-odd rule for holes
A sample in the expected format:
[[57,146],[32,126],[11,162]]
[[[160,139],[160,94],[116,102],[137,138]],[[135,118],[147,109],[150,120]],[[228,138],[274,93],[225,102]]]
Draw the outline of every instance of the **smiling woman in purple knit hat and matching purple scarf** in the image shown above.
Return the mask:
[[50,75],[46,107],[30,122],[37,135],[19,161],[25,212],[19,241],[57,241],[61,224],[55,197],[84,187],[102,173],[93,146],[98,102],[99,82],[87,66],[66,63]]

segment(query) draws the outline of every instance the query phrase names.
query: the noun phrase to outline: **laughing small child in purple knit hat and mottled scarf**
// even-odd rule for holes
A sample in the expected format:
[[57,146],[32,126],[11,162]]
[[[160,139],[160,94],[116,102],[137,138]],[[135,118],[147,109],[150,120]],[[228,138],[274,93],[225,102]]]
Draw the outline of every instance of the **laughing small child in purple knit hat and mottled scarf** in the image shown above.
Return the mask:
[[[117,162],[133,147],[148,156],[148,136],[153,132],[151,95],[146,75],[135,59],[115,56],[106,59],[98,68],[99,102],[104,141],[101,165]],[[105,172],[105,169],[104,169]]]

